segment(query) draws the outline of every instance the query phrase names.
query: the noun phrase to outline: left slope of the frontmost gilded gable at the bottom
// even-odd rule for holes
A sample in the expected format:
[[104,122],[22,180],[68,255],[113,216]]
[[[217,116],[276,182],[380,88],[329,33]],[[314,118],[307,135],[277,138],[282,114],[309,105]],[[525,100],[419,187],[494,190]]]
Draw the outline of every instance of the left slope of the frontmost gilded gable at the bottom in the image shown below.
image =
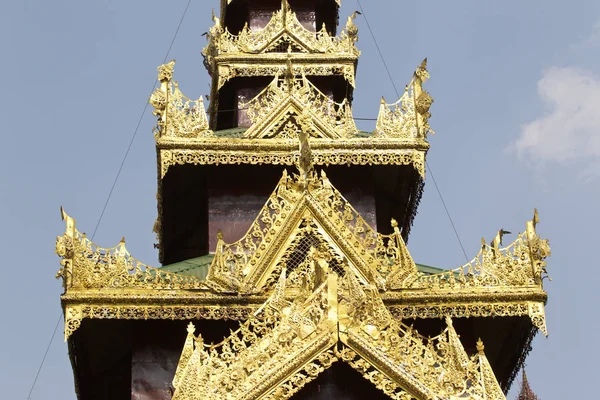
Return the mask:
[[191,356],[186,347],[173,399],[287,399],[336,360],[335,277],[293,302],[280,297],[285,282],[284,271],[269,300],[223,342],[196,338]]

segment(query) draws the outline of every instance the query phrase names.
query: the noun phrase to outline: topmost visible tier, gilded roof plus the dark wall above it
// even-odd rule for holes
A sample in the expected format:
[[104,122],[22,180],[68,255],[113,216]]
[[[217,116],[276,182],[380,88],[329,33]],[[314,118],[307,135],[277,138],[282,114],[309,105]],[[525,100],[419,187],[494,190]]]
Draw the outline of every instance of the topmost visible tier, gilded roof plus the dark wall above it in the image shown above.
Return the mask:
[[215,24],[202,52],[216,89],[234,77],[283,74],[289,59],[297,75],[341,75],[354,86],[360,55],[356,13],[336,36],[333,0],[227,3],[232,4],[223,2],[223,19],[213,15]]

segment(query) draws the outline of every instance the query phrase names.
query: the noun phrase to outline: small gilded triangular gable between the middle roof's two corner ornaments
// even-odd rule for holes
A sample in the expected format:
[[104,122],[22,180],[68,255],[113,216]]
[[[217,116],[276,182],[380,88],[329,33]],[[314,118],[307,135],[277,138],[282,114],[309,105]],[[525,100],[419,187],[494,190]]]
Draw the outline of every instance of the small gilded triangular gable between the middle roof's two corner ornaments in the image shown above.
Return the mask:
[[[301,130],[298,118],[308,114],[313,120],[311,135],[321,138],[349,138],[358,130],[347,100],[336,103],[313,85],[306,76],[295,79],[288,65],[285,78],[275,79],[254,99],[240,104],[252,122],[246,138],[295,139]],[[286,125],[287,124],[287,125]]]

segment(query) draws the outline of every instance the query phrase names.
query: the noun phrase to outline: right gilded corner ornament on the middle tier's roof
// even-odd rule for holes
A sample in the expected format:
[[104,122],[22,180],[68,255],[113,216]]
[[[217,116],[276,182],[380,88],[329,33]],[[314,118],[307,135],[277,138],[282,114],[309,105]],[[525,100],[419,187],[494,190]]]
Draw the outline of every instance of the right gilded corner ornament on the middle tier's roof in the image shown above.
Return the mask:
[[375,125],[377,136],[426,140],[428,134],[434,133],[429,126],[431,117],[429,108],[433,98],[423,89],[423,83],[428,78],[427,59],[425,59],[397,102],[386,104],[385,99],[381,99]]

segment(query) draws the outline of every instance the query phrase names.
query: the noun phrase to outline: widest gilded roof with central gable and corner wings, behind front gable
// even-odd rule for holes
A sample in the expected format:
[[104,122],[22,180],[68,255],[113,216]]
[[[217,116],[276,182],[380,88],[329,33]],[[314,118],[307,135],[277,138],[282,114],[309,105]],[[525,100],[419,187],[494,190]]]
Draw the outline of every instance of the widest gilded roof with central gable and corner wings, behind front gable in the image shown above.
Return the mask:
[[[398,319],[527,315],[546,333],[542,278],[549,247],[533,221],[506,248],[483,245],[472,262],[426,275],[416,269],[395,223],[394,233],[379,234],[324,174],[303,187],[298,177],[284,173],[248,233],[231,244],[218,240],[208,277],[199,280],[140,263],[124,242],[99,248],[71,217],[63,217],[67,231],[56,249],[63,265],[66,337],[82,318],[243,320],[272,292],[307,235],[331,265],[378,288]],[[300,290],[298,274],[306,263],[300,261],[290,274],[291,293]]]

